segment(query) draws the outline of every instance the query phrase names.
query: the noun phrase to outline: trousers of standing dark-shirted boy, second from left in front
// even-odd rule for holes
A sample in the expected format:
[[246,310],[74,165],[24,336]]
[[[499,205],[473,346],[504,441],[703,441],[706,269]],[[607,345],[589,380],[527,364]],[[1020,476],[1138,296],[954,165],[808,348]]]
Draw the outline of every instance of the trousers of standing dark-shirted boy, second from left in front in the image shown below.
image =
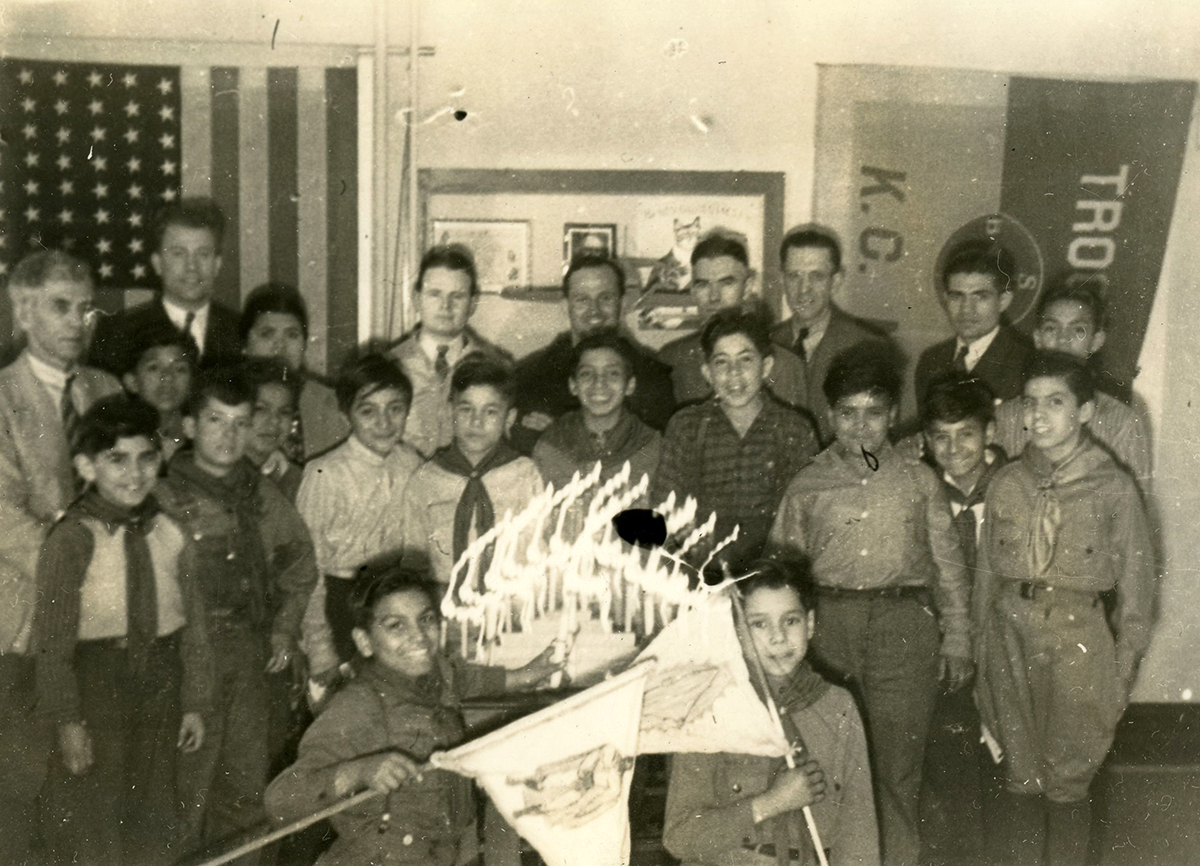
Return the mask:
[[204,718],[204,745],[179,762],[185,850],[209,847],[265,819],[266,641],[239,621],[214,619],[209,625],[217,674],[212,712]]

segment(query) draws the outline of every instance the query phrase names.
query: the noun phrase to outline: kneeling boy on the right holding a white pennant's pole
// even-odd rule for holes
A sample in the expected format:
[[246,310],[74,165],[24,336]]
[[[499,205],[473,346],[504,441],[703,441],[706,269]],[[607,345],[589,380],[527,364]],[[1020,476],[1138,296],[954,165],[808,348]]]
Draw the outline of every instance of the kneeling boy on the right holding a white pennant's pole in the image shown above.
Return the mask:
[[778,696],[785,732],[803,735],[803,762],[788,769],[782,758],[751,754],[672,756],[662,844],[685,862],[810,864],[802,810],[811,806],[830,861],[876,866],[863,720],[850,692],[827,682],[808,657],[816,626],[808,564],[749,565],[733,590],[745,612],[743,654]]

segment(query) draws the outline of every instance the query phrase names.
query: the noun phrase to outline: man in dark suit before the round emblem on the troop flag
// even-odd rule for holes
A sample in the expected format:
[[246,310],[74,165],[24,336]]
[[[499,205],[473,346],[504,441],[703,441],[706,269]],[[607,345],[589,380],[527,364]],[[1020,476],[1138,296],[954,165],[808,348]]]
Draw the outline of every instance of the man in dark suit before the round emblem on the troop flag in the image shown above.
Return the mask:
[[929,386],[952,371],[983,380],[997,399],[1021,393],[1033,341],[1002,318],[1013,302],[1014,273],[1012,253],[990,241],[966,241],[947,257],[938,299],[954,336],[920,354],[914,375],[918,407]]

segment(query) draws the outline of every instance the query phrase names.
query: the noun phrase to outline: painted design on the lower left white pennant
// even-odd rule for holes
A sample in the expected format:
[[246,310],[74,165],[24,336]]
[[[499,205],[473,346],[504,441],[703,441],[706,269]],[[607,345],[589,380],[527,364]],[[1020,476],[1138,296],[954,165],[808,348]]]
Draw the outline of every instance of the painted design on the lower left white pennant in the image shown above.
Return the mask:
[[553,826],[574,830],[617,805],[632,770],[634,758],[611,744],[542,764],[532,775],[509,777],[508,784],[524,789],[526,805],[515,814],[538,814]]

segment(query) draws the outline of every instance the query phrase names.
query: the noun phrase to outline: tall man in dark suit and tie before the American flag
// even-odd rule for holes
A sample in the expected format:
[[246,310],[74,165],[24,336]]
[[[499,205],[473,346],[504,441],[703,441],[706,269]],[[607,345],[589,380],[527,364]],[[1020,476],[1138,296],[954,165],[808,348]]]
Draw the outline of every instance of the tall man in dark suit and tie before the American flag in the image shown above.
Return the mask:
[[224,239],[221,209],[209,198],[185,198],[162,212],[155,234],[150,264],[162,281],[162,293],[102,318],[92,337],[90,363],[121,375],[128,368],[131,335],[162,325],[191,336],[200,366],[236,361],[241,356],[238,313],[212,301]]

